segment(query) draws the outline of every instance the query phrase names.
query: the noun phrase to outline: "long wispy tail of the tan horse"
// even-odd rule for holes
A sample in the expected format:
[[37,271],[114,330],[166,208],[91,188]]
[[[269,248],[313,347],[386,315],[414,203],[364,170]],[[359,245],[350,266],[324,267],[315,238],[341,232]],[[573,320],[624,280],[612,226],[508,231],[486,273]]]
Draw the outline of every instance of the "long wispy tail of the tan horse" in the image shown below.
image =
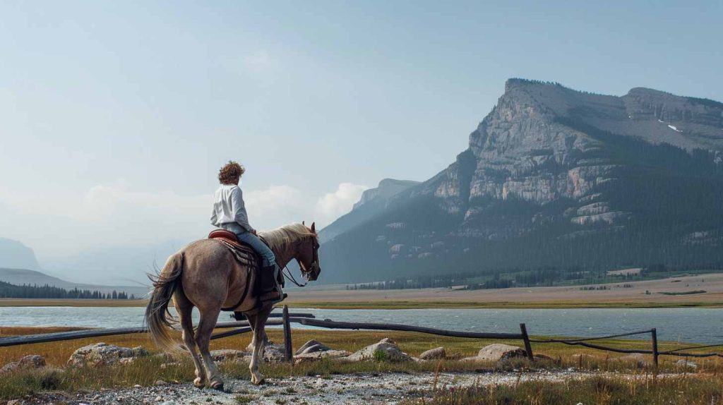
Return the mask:
[[153,282],[153,292],[151,292],[150,301],[145,308],[145,322],[153,342],[165,352],[176,352],[181,349],[181,346],[169,333],[169,329],[176,323],[176,319],[168,312],[168,303],[171,302],[176,288],[180,286],[183,264],[184,253],[176,253],[168,258],[161,273],[148,275],[150,281]]

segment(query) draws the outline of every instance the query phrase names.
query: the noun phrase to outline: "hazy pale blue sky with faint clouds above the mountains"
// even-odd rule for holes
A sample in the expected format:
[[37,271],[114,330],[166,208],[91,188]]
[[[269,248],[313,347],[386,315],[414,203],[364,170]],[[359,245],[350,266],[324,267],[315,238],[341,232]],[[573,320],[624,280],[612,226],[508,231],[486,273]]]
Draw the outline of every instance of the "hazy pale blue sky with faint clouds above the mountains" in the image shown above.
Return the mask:
[[[723,100],[721,1],[0,0],[0,237],[203,238],[237,160],[254,227],[348,212],[455,160],[505,79]],[[164,259],[160,260],[161,263]]]

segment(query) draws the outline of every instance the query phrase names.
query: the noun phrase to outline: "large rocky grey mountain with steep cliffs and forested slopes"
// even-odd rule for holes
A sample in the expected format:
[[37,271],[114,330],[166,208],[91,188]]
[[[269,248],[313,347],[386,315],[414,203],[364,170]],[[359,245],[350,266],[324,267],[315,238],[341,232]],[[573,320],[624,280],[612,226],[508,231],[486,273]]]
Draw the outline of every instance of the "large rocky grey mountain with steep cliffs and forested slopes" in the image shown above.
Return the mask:
[[323,278],[723,266],[722,201],[723,103],[510,79],[453,164],[329,225]]

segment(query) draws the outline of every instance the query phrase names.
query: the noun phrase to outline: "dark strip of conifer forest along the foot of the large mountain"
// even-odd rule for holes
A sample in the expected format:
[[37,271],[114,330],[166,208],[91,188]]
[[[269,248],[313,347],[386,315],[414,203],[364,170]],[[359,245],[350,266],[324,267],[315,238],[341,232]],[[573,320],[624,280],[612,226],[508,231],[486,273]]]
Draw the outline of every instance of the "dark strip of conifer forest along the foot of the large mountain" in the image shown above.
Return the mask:
[[420,289],[451,288],[491,289],[510,287],[552,287],[557,285],[604,284],[632,282],[648,279],[662,279],[685,274],[704,274],[723,269],[723,263],[695,268],[674,268],[663,264],[654,264],[642,269],[639,274],[607,274],[607,271],[584,271],[577,267],[557,269],[544,267],[535,270],[509,269],[456,274],[438,274],[436,276],[397,277],[382,282],[347,284],[346,289]]

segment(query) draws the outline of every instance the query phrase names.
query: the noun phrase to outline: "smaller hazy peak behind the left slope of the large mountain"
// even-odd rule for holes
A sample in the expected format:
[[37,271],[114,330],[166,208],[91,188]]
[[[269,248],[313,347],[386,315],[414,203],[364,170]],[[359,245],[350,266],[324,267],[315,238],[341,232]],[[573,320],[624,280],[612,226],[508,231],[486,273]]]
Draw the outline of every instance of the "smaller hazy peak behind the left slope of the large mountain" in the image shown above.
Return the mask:
[[369,190],[361,194],[361,199],[354,204],[352,209],[354,214],[344,215],[321,230],[319,240],[321,242],[332,240],[337,235],[341,235],[367,221],[367,219],[375,217],[377,213],[387,207],[390,199],[417,184],[419,184],[419,181],[385,178],[379,182],[379,186],[369,188]]

